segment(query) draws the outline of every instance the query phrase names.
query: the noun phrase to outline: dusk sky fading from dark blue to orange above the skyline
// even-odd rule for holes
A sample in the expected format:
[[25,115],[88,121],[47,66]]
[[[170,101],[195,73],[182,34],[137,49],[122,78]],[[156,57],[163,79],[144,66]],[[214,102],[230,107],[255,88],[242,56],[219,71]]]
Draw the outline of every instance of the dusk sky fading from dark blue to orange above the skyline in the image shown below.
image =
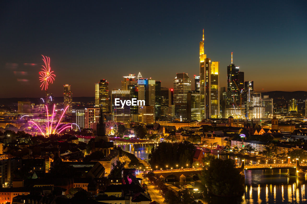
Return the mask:
[[306,10],[306,1],[1,1],[0,98],[45,95],[41,55],[56,74],[54,96],[64,84],[94,96],[100,79],[119,89],[139,71],[171,88],[176,73],[199,75],[203,28],[220,86],[233,52],[257,91],[306,91]]

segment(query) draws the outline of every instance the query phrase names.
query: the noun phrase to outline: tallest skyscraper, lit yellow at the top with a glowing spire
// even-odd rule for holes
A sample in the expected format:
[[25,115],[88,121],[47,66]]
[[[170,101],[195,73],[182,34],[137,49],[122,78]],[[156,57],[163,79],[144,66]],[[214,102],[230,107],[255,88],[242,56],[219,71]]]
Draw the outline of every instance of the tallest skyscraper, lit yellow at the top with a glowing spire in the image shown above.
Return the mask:
[[220,116],[220,62],[212,62],[204,54],[203,41],[200,49],[200,119],[219,118]]

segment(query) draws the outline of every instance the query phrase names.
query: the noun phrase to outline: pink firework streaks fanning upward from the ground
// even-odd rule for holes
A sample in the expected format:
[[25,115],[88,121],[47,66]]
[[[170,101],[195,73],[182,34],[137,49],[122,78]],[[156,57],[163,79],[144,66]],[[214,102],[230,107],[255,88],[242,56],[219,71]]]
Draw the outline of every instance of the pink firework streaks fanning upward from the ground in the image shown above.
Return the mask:
[[[64,109],[64,111],[63,111],[63,113],[62,113],[62,115],[61,115],[61,117],[60,117],[60,119],[57,123],[54,120],[55,105],[53,105],[53,111],[52,111],[52,115],[50,117],[49,117],[47,105],[45,105],[45,107],[46,107],[46,111],[47,111],[47,123],[44,123],[40,127],[39,125],[37,125],[37,123],[29,120],[29,122],[33,123],[40,130],[41,134],[44,135],[44,137],[48,137],[50,134],[60,134],[63,130],[66,130],[68,128],[72,129],[72,125],[78,126],[76,123],[68,123],[68,124],[65,124],[65,125],[60,124],[60,121],[63,118],[63,115],[65,114],[65,111],[67,110],[68,106]],[[79,130],[80,130],[80,127],[79,127]]]

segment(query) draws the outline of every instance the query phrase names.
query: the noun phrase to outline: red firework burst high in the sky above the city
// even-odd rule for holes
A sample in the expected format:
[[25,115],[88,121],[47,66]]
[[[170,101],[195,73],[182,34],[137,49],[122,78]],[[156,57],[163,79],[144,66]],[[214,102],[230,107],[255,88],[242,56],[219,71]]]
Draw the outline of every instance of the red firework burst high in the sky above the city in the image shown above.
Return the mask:
[[56,75],[52,74],[53,71],[50,71],[50,58],[47,56],[45,57],[44,55],[41,56],[43,56],[42,60],[45,62],[45,66],[42,65],[44,68],[42,68],[41,69],[42,71],[39,72],[40,74],[39,80],[40,82],[42,82],[40,87],[41,90],[43,90],[44,88],[45,90],[47,90],[49,83],[51,84],[53,83],[54,77]]

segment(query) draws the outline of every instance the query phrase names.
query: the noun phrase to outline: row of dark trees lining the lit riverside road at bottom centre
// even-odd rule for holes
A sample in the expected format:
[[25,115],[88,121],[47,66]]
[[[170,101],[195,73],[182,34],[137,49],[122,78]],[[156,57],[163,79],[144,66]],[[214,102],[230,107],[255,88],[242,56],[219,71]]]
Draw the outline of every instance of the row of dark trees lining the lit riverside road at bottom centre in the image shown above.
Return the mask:
[[148,178],[149,183],[154,185],[164,197],[164,202],[168,204],[201,204],[201,201],[197,201],[188,190],[178,191],[178,195],[173,190],[170,190],[165,185],[165,180],[161,178],[156,178],[155,174],[150,171],[148,173],[143,173],[143,178]]

